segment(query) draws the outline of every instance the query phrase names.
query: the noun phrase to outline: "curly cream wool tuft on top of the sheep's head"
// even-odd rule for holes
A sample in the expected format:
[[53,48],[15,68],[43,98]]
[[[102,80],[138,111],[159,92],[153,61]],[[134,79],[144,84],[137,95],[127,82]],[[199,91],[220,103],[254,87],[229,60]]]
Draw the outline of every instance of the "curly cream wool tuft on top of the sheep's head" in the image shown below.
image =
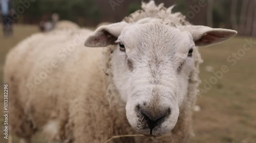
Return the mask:
[[190,25],[188,21],[185,20],[185,16],[182,15],[180,12],[172,13],[172,9],[174,6],[165,8],[164,4],[160,4],[156,6],[154,1],[149,3],[143,3],[141,6],[142,10],[138,10],[129,16],[125,17],[123,20],[127,23],[133,23],[140,19],[147,18],[147,17],[154,17],[154,18],[165,18],[175,25]]

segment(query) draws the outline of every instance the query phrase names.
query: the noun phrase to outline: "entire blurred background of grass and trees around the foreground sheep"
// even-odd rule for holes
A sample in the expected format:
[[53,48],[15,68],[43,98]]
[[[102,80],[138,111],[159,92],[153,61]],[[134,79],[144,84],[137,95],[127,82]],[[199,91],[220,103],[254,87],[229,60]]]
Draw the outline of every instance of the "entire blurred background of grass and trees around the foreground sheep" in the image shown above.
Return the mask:
[[[3,112],[3,66],[8,51],[19,41],[38,32],[51,31],[57,21],[70,20],[95,30],[121,21],[140,9],[140,0],[0,0],[0,92]],[[6,3],[7,2],[7,3]],[[144,2],[148,2],[144,0]],[[195,25],[229,28],[238,36],[218,45],[200,48],[204,63],[200,67],[201,89],[223,65],[223,77],[201,90],[194,113],[195,137],[191,143],[256,142],[256,0],[155,0],[165,7],[176,5]],[[7,7],[7,10],[6,10]],[[5,17],[5,18],[4,18]],[[7,17],[7,18],[6,18]],[[8,26],[6,26],[8,25]],[[244,50],[247,43],[249,50]],[[242,51],[242,52],[241,52]],[[236,56],[235,56],[236,55]],[[227,60],[235,61],[230,64]],[[4,117],[0,118],[0,142]],[[9,139],[18,142],[15,136]],[[46,142],[38,134],[33,142]]]

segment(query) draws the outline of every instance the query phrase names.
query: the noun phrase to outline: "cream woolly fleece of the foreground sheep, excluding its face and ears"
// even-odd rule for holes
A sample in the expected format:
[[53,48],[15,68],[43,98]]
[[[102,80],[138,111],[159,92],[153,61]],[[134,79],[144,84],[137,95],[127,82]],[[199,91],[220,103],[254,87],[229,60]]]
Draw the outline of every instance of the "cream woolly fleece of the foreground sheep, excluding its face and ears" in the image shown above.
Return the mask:
[[[157,7],[153,1],[143,4],[142,8],[144,10],[124,18],[124,21],[133,23],[145,17],[155,17],[167,18],[160,20],[161,24],[189,25],[180,13],[171,14],[172,8]],[[159,20],[140,22],[149,21]],[[99,143],[114,135],[138,134],[126,119],[125,102],[113,81],[111,62],[116,46],[86,48],[81,40],[90,34],[91,31],[79,29],[36,34],[10,51],[4,74],[10,89],[12,133],[29,140],[36,130],[43,129],[50,140],[75,143]],[[197,48],[193,57],[195,67],[189,74],[187,95],[179,107],[175,128],[160,137],[122,137],[115,139],[116,142],[188,141],[200,82],[201,57]],[[42,68],[51,65],[52,71]],[[36,85],[38,80],[41,83]]]

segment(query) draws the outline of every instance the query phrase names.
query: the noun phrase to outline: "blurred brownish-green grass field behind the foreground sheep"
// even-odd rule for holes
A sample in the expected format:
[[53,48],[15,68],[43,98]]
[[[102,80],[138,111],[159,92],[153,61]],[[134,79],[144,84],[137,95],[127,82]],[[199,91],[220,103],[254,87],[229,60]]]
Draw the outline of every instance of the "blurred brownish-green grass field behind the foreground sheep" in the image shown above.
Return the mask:
[[[1,84],[1,114],[3,113],[3,65],[10,48],[20,40],[38,32],[32,25],[15,25],[14,36],[4,38],[0,31],[0,84]],[[255,143],[256,142],[256,38],[252,39],[251,49],[239,56],[237,60],[227,58],[232,53],[242,51],[246,40],[250,37],[235,37],[222,44],[202,47],[200,52],[204,63],[200,67],[200,77],[204,89],[204,80],[209,81],[214,73],[205,70],[211,66],[214,72],[220,71],[223,65],[227,73],[218,79],[207,93],[202,92],[197,105],[201,110],[194,113],[195,137],[191,143]],[[249,47],[249,45],[247,45]],[[242,52],[240,53],[242,55]],[[233,62],[236,61],[236,64]],[[233,64],[233,65],[232,65]],[[3,137],[3,116],[1,116],[0,142],[7,142]],[[13,137],[13,143],[18,142]],[[44,142],[37,135],[33,143]]]

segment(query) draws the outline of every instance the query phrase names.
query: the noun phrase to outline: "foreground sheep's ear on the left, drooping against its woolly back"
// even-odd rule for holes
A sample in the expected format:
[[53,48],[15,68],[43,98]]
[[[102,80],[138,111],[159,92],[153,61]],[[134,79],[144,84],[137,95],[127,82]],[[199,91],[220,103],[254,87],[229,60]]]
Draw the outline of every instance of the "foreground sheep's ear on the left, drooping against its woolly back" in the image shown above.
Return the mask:
[[84,45],[87,47],[105,47],[114,44],[126,25],[126,22],[118,22],[100,26],[86,39]]

